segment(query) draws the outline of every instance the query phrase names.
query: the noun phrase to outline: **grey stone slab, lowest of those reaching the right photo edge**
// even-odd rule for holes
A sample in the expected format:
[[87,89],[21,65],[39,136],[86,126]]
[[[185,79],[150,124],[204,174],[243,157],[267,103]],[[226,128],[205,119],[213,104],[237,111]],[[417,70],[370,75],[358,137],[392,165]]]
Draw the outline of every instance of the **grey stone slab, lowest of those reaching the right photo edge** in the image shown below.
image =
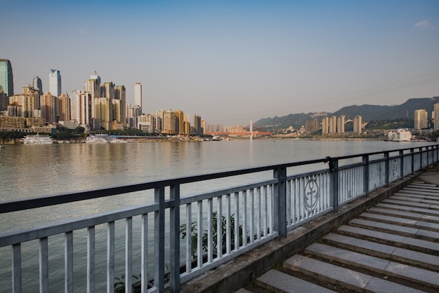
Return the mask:
[[[378,273],[381,278],[393,277],[396,280],[409,280],[410,286],[414,288],[428,288],[429,290],[439,289],[439,278],[437,271],[430,271],[424,268],[417,268],[396,261],[372,257],[367,254],[344,250],[321,243],[313,243],[306,248],[306,253],[336,261],[339,264],[364,269],[370,273]],[[410,289],[414,289],[410,288]],[[395,290],[394,292],[400,292]]]

